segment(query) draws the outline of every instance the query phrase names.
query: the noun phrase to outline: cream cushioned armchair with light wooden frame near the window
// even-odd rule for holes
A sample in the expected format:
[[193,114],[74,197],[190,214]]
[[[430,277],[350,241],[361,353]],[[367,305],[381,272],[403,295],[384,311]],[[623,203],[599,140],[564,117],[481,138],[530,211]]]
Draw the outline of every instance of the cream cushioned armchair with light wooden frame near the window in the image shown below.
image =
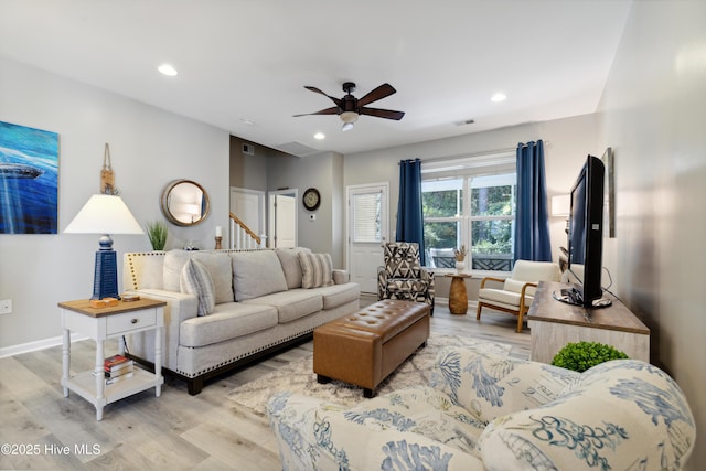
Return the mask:
[[[485,277],[478,292],[475,320],[481,310],[490,308],[517,315],[517,332],[522,332],[524,314],[530,310],[539,281],[560,281],[559,266],[552,261],[517,260],[507,279]],[[486,281],[503,283],[502,288],[485,288]]]

